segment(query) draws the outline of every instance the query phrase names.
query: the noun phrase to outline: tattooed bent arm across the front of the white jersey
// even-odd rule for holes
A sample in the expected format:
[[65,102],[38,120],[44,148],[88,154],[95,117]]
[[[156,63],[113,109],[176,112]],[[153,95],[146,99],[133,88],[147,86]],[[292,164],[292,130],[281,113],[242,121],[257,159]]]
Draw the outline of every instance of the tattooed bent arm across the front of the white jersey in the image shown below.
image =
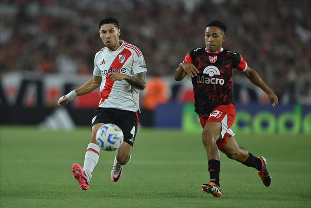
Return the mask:
[[134,76],[111,72],[108,74],[113,81],[125,80],[132,87],[143,90],[146,87],[146,72],[138,73]]

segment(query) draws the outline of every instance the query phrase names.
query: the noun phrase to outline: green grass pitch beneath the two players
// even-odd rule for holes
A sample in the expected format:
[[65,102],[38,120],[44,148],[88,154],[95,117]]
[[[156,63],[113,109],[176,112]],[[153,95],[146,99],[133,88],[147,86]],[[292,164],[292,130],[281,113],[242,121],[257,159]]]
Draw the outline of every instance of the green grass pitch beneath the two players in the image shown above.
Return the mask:
[[142,128],[123,178],[110,180],[114,152],[101,151],[90,190],[81,191],[71,167],[83,166],[89,127],[0,131],[1,207],[311,207],[310,135],[236,135],[267,158],[273,183],[221,153],[223,198],[214,198],[201,191],[209,174],[200,132]]

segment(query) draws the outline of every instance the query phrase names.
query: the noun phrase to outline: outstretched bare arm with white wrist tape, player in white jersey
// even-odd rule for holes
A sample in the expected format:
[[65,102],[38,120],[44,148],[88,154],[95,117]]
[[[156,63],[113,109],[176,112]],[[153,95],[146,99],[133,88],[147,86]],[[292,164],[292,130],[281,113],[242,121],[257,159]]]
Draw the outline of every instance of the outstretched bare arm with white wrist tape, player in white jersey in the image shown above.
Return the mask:
[[[95,89],[97,89],[100,86],[101,80],[102,80],[102,77],[93,76],[91,79],[86,81],[83,85],[81,85],[80,87],[78,87],[74,90],[75,96],[77,97],[77,96],[88,94],[88,93],[94,91]],[[70,92],[70,93],[73,93],[73,92]],[[70,100],[72,100],[72,99],[68,99],[67,95],[61,97],[58,100],[57,104],[58,105],[67,105],[68,102]]]

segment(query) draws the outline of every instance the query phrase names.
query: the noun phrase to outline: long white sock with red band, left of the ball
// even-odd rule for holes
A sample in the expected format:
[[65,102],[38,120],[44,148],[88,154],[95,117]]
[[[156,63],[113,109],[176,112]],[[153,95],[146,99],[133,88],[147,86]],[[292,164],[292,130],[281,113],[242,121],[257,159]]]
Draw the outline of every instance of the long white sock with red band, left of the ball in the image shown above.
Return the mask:
[[99,160],[99,151],[100,147],[97,144],[89,143],[86,149],[84,157],[84,166],[85,171],[93,172],[98,160]]

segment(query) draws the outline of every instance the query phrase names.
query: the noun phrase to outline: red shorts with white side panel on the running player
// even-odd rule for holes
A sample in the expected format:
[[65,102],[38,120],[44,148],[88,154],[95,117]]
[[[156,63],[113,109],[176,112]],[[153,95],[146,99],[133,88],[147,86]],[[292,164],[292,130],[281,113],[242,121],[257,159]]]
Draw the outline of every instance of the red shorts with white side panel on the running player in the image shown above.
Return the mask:
[[218,149],[225,146],[228,137],[235,135],[231,129],[235,120],[235,115],[234,104],[230,103],[228,105],[219,105],[216,107],[208,118],[200,118],[200,123],[203,128],[209,121],[219,121],[221,123],[221,138],[216,142]]

